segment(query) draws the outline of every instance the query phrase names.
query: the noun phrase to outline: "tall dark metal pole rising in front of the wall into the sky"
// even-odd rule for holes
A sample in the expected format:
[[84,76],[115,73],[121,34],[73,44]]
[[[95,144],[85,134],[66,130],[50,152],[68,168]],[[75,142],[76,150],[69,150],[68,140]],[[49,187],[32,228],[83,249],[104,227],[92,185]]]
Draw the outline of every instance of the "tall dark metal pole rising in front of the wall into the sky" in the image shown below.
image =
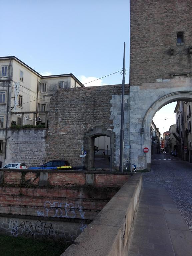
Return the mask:
[[119,154],[119,171],[120,172],[123,172],[124,89],[125,89],[125,42],[124,42],[124,51],[123,51],[123,81],[122,81],[122,100],[121,100],[121,133],[120,133],[120,154]]

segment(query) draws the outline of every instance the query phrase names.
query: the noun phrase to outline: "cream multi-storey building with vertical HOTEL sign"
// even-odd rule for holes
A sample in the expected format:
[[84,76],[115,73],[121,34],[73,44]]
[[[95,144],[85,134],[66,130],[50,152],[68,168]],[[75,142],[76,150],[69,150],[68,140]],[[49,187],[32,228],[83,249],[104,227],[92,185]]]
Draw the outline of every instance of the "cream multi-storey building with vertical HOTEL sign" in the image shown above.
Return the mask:
[[42,76],[15,56],[0,57],[0,161],[11,124],[46,126],[52,95],[74,87],[84,86],[73,74]]

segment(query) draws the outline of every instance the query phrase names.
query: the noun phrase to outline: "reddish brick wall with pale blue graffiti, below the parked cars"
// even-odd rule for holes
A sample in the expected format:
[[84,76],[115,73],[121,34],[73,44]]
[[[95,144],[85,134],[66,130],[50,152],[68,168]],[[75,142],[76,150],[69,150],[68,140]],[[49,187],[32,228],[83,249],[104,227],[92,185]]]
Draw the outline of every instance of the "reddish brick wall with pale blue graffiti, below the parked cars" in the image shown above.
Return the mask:
[[[92,220],[131,177],[122,173],[42,171],[1,171],[0,214]],[[87,175],[93,177],[92,184],[87,184]],[[47,177],[43,187],[42,177]]]

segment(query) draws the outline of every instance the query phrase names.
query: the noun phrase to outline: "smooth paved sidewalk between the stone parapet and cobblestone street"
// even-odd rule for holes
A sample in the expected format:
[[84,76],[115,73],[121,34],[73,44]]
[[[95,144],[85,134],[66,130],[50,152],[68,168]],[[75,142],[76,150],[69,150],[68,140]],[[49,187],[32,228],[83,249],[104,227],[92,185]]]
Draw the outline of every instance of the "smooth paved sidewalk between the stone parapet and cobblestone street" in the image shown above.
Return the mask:
[[192,233],[157,184],[143,182],[128,256],[192,256]]

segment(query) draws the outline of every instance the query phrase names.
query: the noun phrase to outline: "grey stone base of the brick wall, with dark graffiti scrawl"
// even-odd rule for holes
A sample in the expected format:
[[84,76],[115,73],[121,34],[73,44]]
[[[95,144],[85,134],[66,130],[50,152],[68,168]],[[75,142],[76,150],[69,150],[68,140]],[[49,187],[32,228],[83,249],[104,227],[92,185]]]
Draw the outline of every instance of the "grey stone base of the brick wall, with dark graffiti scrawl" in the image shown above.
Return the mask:
[[84,223],[0,219],[0,234],[54,240],[62,238],[66,242],[73,242],[86,227]]

